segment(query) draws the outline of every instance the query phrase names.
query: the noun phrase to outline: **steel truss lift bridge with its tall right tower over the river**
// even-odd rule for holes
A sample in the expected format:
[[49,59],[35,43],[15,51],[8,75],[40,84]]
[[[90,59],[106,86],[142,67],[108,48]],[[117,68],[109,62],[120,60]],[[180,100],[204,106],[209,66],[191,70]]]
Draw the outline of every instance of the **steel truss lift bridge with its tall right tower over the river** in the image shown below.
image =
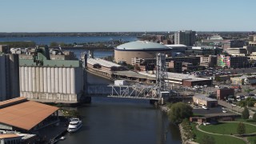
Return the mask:
[[113,98],[140,98],[150,100],[161,100],[168,97],[167,90],[167,73],[165,54],[157,54],[156,63],[156,84],[154,86],[146,86],[142,84],[136,85],[88,85],[87,93],[90,96],[102,96]]

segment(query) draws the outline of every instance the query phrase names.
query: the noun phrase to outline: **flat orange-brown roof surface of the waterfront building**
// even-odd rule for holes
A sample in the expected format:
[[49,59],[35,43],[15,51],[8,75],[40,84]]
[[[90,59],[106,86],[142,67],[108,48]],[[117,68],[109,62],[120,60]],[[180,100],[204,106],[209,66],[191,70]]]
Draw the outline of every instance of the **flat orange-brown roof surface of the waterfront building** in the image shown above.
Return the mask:
[[58,107],[55,106],[33,101],[22,101],[0,109],[0,123],[30,130],[56,110],[58,110]]

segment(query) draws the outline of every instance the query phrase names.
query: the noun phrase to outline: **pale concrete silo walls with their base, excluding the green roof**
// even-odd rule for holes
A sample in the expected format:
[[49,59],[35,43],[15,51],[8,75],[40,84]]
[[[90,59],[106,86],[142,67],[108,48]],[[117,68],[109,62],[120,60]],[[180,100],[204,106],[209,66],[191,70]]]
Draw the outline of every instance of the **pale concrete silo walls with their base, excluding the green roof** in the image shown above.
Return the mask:
[[83,91],[82,67],[20,66],[20,74],[21,96],[29,99],[78,102]]

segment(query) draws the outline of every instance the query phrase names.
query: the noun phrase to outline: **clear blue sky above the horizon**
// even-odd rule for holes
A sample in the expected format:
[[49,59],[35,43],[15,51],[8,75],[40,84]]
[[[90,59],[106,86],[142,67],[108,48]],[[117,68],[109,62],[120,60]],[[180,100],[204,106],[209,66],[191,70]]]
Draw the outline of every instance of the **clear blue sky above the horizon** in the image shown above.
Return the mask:
[[256,31],[256,0],[0,0],[0,32]]

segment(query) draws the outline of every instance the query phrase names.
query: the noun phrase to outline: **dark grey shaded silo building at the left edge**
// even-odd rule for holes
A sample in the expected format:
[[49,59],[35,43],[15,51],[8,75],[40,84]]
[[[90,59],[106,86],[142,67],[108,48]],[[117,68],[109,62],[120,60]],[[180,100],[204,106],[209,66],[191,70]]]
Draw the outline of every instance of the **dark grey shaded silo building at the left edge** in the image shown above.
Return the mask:
[[19,97],[18,54],[0,54],[0,102]]

